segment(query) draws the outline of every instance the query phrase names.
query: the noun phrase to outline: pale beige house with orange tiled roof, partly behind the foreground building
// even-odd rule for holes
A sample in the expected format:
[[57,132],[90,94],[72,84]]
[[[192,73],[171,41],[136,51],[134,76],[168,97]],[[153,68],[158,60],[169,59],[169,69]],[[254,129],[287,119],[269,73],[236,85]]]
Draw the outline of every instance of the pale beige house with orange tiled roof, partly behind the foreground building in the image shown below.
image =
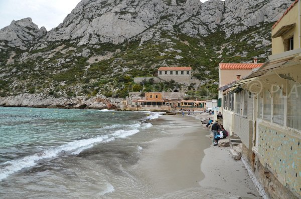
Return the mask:
[[[220,63],[218,67],[218,87],[221,88],[236,81],[260,66],[262,66],[262,63],[257,63],[257,59],[254,59],[253,63]],[[222,90],[218,92],[218,98],[222,98]]]

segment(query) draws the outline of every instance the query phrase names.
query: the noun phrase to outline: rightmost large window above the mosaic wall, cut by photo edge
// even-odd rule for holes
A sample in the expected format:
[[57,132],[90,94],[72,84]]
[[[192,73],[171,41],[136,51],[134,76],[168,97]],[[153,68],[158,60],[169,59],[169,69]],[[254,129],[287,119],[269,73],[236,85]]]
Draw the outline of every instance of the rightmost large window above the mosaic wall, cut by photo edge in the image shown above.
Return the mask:
[[301,130],[301,86],[288,80],[286,125]]

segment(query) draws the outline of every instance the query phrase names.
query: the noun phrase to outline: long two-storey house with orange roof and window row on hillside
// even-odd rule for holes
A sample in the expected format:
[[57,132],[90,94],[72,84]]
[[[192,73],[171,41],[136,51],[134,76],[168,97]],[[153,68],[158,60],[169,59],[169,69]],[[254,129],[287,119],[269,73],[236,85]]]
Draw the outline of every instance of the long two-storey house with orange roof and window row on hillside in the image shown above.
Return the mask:
[[165,81],[175,80],[178,83],[191,84],[191,67],[160,67],[158,78]]

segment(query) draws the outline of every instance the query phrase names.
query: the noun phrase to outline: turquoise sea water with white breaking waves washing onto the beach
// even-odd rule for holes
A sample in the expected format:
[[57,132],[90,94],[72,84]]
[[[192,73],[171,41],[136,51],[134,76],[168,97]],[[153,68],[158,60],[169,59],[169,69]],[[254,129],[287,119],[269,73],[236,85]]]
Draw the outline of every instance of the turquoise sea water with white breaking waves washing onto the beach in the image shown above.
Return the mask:
[[156,112],[0,107],[0,198],[149,198],[131,174]]

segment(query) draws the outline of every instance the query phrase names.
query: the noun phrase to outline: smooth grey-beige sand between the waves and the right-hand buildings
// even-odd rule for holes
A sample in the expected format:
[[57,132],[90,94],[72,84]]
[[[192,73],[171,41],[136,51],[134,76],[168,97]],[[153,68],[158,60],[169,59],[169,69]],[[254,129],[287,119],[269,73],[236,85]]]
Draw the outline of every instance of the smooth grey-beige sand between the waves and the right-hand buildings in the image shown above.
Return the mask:
[[154,197],[260,198],[243,163],[230,157],[229,147],[213,146],[200,120],[165,115],[154,122],[171,128],[143,149],[136,167]]

